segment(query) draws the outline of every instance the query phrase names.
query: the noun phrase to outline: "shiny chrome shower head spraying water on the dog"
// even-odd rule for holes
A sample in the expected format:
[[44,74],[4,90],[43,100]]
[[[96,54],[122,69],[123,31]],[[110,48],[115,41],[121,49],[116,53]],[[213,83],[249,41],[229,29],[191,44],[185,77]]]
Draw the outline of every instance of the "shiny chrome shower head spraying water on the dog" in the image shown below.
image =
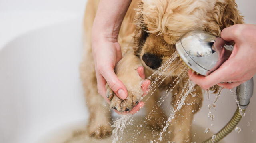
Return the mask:
[[180,58],[192,70],[205,76],[229,58],[232,48],[233,46],[222,38],[199,30],[184,34],[176,42]]

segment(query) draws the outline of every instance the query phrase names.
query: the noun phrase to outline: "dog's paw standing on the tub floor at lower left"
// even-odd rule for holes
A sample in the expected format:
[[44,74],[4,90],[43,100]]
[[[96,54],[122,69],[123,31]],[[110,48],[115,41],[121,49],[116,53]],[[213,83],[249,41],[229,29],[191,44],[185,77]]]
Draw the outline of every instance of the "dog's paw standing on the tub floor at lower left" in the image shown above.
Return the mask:
[[103,139],[112,134],[112,128],[110,125],[90,125],[89,135],[98,139]]

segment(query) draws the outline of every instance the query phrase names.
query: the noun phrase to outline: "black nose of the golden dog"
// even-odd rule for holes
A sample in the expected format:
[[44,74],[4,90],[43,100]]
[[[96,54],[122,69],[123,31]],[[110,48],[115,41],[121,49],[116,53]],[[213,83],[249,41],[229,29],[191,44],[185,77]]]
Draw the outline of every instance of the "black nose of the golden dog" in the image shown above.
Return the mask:
[[154,54],[145,53],[142,56],[142,60],[145,62],[147,66],[152,69],[159,68],[162,62],[162,59]]

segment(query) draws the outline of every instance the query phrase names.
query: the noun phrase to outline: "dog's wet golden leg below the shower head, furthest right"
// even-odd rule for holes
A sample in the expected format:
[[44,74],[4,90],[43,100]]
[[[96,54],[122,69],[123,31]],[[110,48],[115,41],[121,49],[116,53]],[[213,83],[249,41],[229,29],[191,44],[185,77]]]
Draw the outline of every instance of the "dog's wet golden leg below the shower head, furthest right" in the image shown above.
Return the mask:
[[[183,81],[183,80],[182,80]],[[186,92],[184,89],[184,82],[180,82],[174,88],[174,95],[172,105],[174,109],[178,106],[178,101]],[[184,80],[186,81],[186,79]],[[195,86],[195,91],[186,97],[185,104],[176,112],[175,118],[172,120],[170,131],[173,133],[174,138],[172,141],[175,143],[191,143],[191,127],[194,114],[200,109],[202,104],[202,91],[200,87]],[[175,93],[178,93],[176,95]]]

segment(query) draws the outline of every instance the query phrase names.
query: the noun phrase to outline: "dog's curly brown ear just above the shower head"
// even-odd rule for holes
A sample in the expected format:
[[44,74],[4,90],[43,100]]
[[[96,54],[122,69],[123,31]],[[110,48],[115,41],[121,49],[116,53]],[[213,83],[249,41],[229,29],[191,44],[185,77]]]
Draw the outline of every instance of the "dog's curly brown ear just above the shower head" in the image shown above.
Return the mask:
[[224,28],[244,23],[243,16],[240,15],[235,0],[217,0],[214,9],[208,14],[211,20],[206,24],[206,31],[218,36],[220,36]]

